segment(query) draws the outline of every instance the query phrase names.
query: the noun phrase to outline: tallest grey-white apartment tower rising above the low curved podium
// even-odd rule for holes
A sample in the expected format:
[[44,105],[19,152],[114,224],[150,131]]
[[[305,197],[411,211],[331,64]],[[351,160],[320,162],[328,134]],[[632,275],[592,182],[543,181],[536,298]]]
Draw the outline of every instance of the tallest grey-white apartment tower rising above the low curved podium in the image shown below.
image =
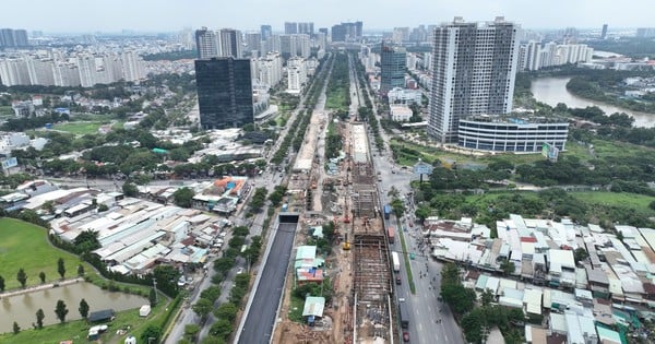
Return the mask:
[[430,137],[441,143],[457,142],[461,117],[512,110],[516,31],[503,17],[486,23],[455,17],[434,28]]

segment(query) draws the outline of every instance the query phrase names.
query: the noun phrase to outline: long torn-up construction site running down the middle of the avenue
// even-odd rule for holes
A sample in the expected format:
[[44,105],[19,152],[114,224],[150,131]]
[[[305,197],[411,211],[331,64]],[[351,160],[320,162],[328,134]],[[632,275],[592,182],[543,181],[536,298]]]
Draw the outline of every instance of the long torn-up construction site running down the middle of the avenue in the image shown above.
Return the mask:
[[[326,161],[331,121],[343,152]],[[311,228],[335,224],[332,250],[318,268],[329,276],[332,297],[320,321],[310,325],[305,316],[302,322],[291,320],[301,306],[291,296],[300,282],[289,269],[273,343],[392,342],[391,258],[369,146],[367,127],[354,116],[337,121],[327,111],[313,111],[289,178],[287,206],[302,214],[296,248],[315,242]]]

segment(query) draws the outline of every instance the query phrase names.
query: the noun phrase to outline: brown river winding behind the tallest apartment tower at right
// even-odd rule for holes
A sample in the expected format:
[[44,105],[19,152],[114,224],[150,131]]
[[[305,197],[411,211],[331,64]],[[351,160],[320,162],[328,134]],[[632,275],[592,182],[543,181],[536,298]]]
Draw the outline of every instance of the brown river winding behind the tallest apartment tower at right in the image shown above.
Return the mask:
[[546,103],[550,106],[556,106],[558,103],[564,103],[568,107],[587,107],[597,106],[605,114],[626,112],[634,117],[634,127],[655,127],[655,114],[646,114],[620,108],[606,103],[581,98],[567,90],[567,83],[571,78],[538,78],[533,81],[531,91],[535,99]]

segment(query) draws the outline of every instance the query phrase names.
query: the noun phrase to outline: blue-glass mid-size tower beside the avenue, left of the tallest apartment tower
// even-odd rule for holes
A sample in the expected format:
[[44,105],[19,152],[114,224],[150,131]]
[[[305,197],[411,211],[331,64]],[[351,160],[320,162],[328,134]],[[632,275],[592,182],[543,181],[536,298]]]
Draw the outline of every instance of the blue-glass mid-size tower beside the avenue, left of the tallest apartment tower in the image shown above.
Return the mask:
[[384,41],[380,50],[380,94],[385,96],[395,87],[405,87],[407,51],[405,48],[392,47]]

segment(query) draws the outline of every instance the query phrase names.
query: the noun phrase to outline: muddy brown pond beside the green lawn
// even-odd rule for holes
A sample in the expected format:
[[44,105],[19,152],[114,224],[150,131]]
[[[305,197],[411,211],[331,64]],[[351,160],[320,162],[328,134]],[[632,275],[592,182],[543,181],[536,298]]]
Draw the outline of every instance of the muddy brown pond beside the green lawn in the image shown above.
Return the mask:
[[[32,329],[32,323],[36,323],[36,311],[44,310],[44,325],[59,323],[55,315],[57,300],[63,300],[69,310],[66,320],[81,319],[80,300],[84,298],[90,307],[90,313],[103,309],[114,309],[121,311],[126,309],[139,308],[146,305],[146,298],[124,294],[120,292],[107,292],[100,287],[80,282],[69,284],[51,289],[44,289],[16,296],[3,297],[0,299],[0,333],[11,332],[13,322],[17,322],[21,329]],[[134,311],[139,311],[135,309]]]

